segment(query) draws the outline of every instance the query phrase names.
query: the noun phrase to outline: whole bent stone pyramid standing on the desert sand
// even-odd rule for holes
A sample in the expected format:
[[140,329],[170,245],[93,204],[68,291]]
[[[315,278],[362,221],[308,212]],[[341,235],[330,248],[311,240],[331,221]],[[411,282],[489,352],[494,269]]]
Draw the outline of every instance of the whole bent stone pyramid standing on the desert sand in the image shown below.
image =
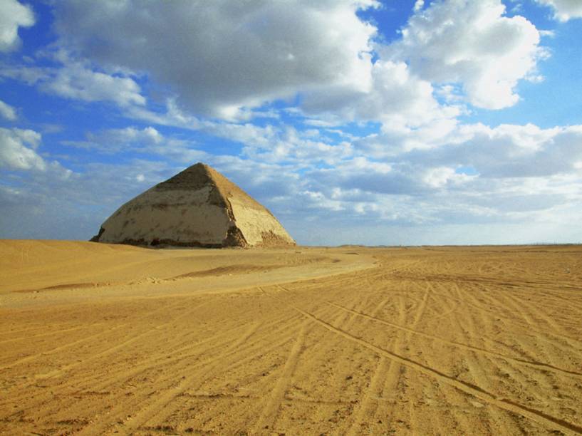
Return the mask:
[[173,246],[290,246],[268,209],[197,163],[117,209],[93,242]]

